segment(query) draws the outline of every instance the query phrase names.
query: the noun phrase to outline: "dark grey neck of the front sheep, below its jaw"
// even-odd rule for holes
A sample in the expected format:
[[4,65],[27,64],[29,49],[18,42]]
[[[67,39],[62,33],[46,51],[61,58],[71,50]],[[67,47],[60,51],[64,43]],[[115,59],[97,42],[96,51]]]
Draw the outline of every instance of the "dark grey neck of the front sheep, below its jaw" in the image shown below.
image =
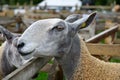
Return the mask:
[[56,59],[63,69],[66,80],[71,80],[80,59],[80,40],[77,35],[72,41],[70,51],[64,54],[61,58]]

